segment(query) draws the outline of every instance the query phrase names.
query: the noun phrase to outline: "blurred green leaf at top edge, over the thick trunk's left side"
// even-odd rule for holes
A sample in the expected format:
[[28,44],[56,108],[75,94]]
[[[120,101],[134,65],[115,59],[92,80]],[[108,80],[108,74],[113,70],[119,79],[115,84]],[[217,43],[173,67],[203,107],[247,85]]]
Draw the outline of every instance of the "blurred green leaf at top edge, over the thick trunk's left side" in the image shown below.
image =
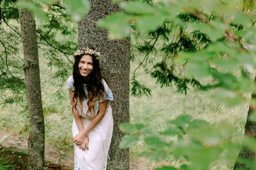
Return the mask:
[[[67,11],[75,21],[79,21],[90,10],[89,0],[65,0]],[[93,24],[93,23],[90,23]]]

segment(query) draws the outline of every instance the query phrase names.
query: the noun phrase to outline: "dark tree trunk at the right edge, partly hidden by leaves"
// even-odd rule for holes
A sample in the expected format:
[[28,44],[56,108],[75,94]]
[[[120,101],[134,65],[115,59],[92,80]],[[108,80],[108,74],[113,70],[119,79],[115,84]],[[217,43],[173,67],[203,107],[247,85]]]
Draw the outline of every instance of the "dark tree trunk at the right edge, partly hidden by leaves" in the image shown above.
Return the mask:
[[[256,77],[254,79],[254,83],[256,83]],[[252,94],[252,99],[256,99],[256,94]],[[250,120],[250,115],[255,113],[256,106],[252,105],[250,103],[248,114],[247,114],[247,122],[245,124],[245,130],[244,135],[251,136],[254,139],[256,139],[256,122],[253,122]],[[248,146],[242,146],[238,159],[247,159],[247,160],[255,160],[255,152]],[[234,166],[234,170],[236,168],[246,168],[248,170],[256,170],[256,167],[251,169],[247,167],[245,164],[239,163],[238,160],[236,160],[236,164]]]

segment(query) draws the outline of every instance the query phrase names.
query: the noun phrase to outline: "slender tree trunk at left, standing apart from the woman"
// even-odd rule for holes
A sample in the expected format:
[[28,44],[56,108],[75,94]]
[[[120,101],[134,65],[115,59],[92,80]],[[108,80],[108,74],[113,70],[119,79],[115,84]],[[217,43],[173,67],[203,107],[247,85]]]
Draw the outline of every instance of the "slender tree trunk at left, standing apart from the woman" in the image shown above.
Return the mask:
[[19,9],[19,16],[30,122],[28,169],[42,170],[44,166],[44,115],[41,99],[35,18],[31,11],[25,9]]

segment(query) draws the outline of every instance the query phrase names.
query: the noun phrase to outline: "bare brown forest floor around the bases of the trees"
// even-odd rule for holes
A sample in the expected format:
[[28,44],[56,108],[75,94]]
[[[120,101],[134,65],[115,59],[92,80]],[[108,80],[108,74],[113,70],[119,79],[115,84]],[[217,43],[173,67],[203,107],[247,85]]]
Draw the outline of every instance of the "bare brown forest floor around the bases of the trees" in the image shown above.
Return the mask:
[[[8,132],[0,132],[0,156],[4,156],[5,164],[12,165],[15,170],[27,170],[27,140],[20,139],[19,135]],[[65,159],[60,159],[58,150],[45,146],[44,170],[73,170],[73,155],[65,155]],[[152,167],[144,167],[143,160],[130,162],[130,170],[153,170]]]

